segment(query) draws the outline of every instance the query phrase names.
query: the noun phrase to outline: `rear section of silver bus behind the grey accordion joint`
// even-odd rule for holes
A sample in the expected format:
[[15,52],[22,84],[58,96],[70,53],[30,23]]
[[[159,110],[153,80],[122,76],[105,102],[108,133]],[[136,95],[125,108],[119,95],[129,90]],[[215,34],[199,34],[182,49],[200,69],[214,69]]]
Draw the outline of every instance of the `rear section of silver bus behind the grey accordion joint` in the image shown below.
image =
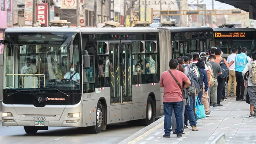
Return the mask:
[[[177,27],[174,22],[166,21],[158,27],[158,30],[166,29],[169,31],[168,41],[172,42],[172,58],[184,56],[187,53],[202,52],[214,46],[213,29],[210,27]],[[168,53],[165,55],[168,55]],[[162,56],[162,55],[161,55]],[[166,57],[166,56],[165,56]],[[162,95],[161,93],[161,99]],[[164,114],[164,105],[161,101],[161,115]]]

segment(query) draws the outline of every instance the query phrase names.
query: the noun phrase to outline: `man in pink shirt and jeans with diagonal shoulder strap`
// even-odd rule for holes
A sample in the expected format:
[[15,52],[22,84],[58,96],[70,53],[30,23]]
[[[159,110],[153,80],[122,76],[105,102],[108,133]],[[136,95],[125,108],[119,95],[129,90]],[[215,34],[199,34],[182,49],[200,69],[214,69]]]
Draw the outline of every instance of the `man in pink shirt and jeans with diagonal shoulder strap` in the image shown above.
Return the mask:
[[178,71],[178,60],[171,59],[169,62],[169,71],[164,71],[160,78],[160,87],[164,87],[164,137],[169,138],[172,127],[172,109],[174,110],[177,128],[175,132],[177,137],[182,137],[183,131],[183,89],[190,86],[190,80],[187,76]]

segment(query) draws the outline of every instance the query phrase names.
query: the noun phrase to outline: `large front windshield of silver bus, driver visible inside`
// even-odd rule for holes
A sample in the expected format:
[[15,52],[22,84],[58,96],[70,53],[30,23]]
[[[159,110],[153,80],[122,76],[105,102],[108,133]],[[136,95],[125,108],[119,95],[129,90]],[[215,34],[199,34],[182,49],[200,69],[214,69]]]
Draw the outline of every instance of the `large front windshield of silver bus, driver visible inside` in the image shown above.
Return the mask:
[[80,89],[80,34],[5,33],[4,89]]

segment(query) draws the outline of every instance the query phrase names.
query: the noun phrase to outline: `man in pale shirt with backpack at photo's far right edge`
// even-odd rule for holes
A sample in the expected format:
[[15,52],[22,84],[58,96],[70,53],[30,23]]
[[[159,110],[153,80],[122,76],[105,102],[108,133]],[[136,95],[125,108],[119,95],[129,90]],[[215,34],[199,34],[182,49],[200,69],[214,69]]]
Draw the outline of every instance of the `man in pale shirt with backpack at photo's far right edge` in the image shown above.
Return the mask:
[[250,115],[249,118],[253,118],[255,113],[253,112],[256,104],[256,51],[252,52],[253,61],[245,65],[242,76],[247,81],[247,92],[250,97]]

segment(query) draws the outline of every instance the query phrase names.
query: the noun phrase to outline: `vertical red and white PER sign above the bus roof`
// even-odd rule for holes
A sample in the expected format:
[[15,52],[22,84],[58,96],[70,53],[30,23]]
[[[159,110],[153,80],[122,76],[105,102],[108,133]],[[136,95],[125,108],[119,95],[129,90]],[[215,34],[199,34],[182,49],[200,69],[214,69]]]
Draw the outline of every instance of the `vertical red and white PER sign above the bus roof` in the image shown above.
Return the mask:
[[39,5],[37,5],[37,22],[39,26],[41,26],[42,24],[48,26],[47,10],[47,3],[39,3]]

